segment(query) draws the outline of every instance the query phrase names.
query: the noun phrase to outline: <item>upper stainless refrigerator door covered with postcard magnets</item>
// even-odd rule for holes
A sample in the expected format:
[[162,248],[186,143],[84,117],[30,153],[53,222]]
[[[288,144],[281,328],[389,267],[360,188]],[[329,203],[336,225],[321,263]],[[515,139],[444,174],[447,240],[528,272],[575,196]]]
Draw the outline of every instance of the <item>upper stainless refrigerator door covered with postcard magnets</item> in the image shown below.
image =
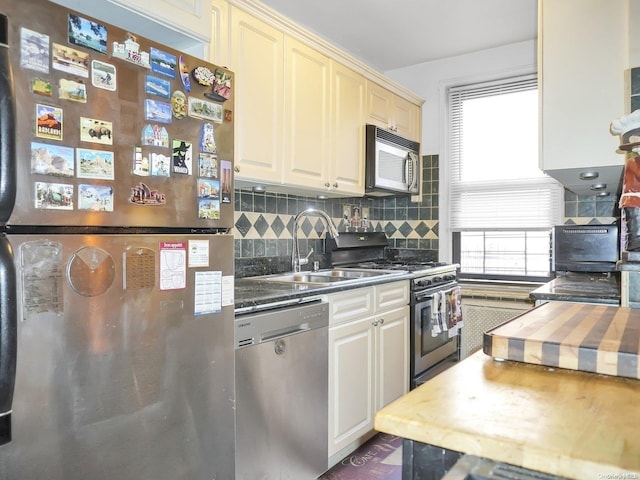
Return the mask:
[[2,223],[233,227],[232,72],[47,0],[2,9],[19,106]]

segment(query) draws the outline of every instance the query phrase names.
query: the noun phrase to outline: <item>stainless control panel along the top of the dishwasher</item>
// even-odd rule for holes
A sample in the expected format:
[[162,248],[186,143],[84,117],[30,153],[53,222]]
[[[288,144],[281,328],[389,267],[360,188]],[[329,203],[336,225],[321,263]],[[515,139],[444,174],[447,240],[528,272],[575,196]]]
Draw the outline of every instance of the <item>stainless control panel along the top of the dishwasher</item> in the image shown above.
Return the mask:
[[234,345],[236,349],[249,347],[328,325],[329,304],[319,299],[237,315],[234,321]]

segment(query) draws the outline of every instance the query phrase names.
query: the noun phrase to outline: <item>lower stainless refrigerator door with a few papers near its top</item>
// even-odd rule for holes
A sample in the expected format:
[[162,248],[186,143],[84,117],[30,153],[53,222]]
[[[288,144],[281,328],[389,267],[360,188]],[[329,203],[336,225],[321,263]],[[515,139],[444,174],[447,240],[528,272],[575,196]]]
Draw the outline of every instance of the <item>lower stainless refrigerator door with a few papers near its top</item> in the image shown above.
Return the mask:
[[233,478],[232,237],[9,240],[18,355],[0,479]]

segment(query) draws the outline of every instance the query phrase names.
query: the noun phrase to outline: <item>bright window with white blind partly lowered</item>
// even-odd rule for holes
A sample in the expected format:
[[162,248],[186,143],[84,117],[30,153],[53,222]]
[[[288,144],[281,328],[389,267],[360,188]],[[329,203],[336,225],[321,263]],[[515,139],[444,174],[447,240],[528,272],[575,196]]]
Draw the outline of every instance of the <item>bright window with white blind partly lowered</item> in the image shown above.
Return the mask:
[[563,188],[538,168],[535,76],[451,87],[449,228],[461,277],[550,275]]

